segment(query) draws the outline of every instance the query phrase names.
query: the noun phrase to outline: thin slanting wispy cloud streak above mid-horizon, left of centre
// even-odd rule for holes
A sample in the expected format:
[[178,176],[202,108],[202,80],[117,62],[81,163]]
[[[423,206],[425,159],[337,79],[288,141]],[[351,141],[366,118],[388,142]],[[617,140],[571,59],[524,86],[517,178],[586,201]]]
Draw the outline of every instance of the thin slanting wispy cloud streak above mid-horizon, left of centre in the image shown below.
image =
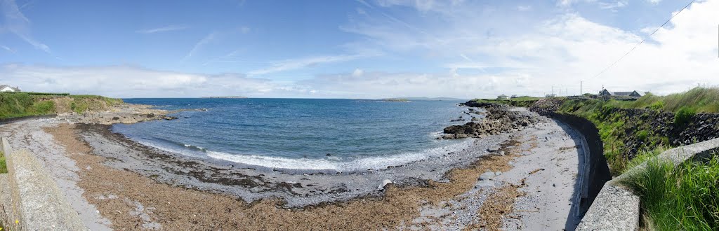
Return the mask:
[[260,70],[252,70],[247,74],[252,75],[266,75],[274,72],[283,72],[287,70],[296,70],[304,67],[310,67],[314,65],[321,65],[330,62],[345,62],[349,60],[356,60],[361,57],[367,57],[369,55],[325,55],[316,57],[305,57],[296,60],[283,60],[275,62],[272,67],[263,68]]

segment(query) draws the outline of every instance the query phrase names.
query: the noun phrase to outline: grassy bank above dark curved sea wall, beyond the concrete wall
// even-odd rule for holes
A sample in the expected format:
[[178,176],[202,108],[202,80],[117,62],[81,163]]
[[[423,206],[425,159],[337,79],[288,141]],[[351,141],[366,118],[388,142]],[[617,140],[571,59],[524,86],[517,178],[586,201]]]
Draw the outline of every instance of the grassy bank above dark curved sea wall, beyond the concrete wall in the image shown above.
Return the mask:
[[719,88],[647,94],[636,101],[564,100],[557,111],[582,116],[597,126],[604,155],[612,173],[618,175],[676,146],[667,133],[695,128],[689,123],[697,113],[719,113]]

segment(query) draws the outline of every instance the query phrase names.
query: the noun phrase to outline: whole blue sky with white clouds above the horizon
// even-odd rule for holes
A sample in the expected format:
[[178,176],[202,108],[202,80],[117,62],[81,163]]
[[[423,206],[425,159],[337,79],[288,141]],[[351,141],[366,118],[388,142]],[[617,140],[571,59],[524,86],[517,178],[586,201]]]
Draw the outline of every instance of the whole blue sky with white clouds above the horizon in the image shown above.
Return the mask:
[[666,95],[719,85],[719,0],[660,28],[689,2],[0,0],[0,84],[117,98]]

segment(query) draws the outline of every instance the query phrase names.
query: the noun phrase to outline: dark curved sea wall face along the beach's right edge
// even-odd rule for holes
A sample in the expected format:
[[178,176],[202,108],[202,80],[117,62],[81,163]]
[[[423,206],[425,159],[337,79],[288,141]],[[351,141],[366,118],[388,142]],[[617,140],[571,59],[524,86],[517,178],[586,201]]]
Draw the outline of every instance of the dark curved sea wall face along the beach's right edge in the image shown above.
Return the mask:
[[604,158],[604,145],[599,136],[599,130],[594,126],[594,123],[577,115],[554,113],[551,118],[571,126],[574,130],[582,133],[585,138],[587,147],[583,148],[585,148],[585,154],[589,155],[585,156],[585,163],[580,164],[585,169],[580,171],[583,176],[579,177],[581,185],[579,212],[585,213],[594,202],[595,197],[600,193],[602,187],[604,187],[604,184],[612,179],[607,160]]

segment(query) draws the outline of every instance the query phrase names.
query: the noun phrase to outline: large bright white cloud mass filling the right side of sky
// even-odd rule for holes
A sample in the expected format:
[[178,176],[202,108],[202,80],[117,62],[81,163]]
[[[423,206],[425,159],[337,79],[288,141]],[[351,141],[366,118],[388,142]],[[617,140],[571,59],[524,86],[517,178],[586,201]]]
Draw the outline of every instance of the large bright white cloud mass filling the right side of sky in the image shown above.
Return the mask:
[[[574,1],[559,1],[558,4],[572,4]],[[613,6],[623,6],[622,2]],[[439,10],[433,8],[434,11]],[[692,88],[697,83],[719,85],[719,65],[716,43],[716,25],[719,18],[719,1],[700,1],[692,4],[672,19],[667,27],[651,37],[652,42],[641,44],[635,51],[600,77],[598,72],[608,67],[647,34],[635,34],[623,29],[605,26],[578,14],[562,14],[539,24],[517,25],[521,31],[501,32],[487,37],[481,28],[501,27],[506,24],[482,24],[473,19],[484,15],[468,16],[467,11],[480,12],[482,9],[469,6],[444,8],[438,13],[443,22],[441,27],[432,27],[431,23],[410,22],[422,28],[426,34],[409,29],[394,20],[381,17],[367,17],[363,21],[353,22],[343,27],[345,31],[362,34],[367,38],[364,46],[381,47],[402,54],[432,54],[431,60],[442,63],[449,73],[393,74],[387,77],[389,82],[362,85],[352,82],[337,87],[355,89],[353,93],[395,93],[403,92],[405,86],[418,92],[439,93],[462,97],[492,97],[504,94],[544,95],[554,86],[557,89],[579,93],[580,80],[584,81],[585,93],[600,90],[602,85],[613,90],[651,90],[654,93],[674,93]],[[427,14],[418,9],[418,13]],[[676,12],[674,12],[676,14]],[[433,16],[437,16],[433,15]],[[667,14],[667,18],[671,16]],[[507,16],[511,18],[511,16]],[[401,21],[406,19],[398,18]],[[458,55],[459,54],[459,55]],[[472,60],[475,57],[477,60]],[[365,72],[362,80],[368,83],[380,81],[367,79]],[[389,75],[389,74],[375,74]],[[324,80],[360,81],[347,76]],[[430,81],[427,76],[439,80]],[[478,90],[453,90],[450,77],[458,76],[464,83]],[[400,79],[398,79],[400,78]],[[383,85],[408,83],[416,78],[426,85],[401,85],[395,90],[385,89]],[[462,82],[464,81],[464,82]],[[472,83],[482,83],[495,88],[480,88]],[[417,83],[417,81],[413,82]],[[354,86],[364,86],[362,90]],[[419,90],[422,88],[422,90]],[[329,90],[329,88],[321,89]],[[390,95],[385,95],[390,96]]]

